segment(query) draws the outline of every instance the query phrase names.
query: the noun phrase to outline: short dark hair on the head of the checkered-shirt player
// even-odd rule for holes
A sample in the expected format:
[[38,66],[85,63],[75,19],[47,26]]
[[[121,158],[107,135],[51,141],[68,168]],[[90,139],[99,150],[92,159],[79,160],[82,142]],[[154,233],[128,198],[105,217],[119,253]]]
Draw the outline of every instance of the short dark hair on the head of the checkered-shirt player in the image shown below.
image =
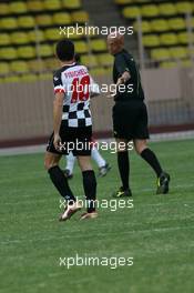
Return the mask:
[[74,43],[68,39],[60,40],[55,47],[59,60],[70,61],[74,58]]

